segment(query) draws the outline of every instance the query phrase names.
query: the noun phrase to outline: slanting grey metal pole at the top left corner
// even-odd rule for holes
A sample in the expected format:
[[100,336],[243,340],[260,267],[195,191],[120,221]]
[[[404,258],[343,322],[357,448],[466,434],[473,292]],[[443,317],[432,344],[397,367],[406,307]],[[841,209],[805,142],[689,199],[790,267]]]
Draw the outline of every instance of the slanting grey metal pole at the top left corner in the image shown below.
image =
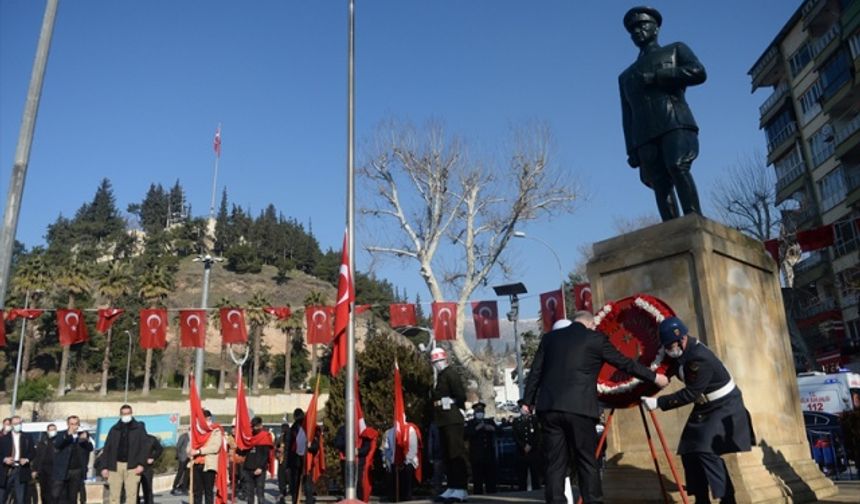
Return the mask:
[[27,165],[30,163],[30,147],[33,145],[33,131],[36,128],[36,114],[39,99],[42,97],[42,82],[45,80],[45,66],[48,51],[51,49],[51,36],[54,33],[54,19],[57,17],[59,0],[48,0],[45,16],[42,18],[42,31],[36,47],[33,73],[30,75],[30,89],[24,104],[21,118],[21,131],[18,133],[18,146],[15,149],[15,164],[9,193],[6,196],[6,211],[3,214],[3,229],[0,230],[0,308],[6,306],[6,288],[9,286],[9,270],[12,267],[12,249],[18,230],[18,216],[21,213],[21,197],[24,194],[24,180],[27,178]]

